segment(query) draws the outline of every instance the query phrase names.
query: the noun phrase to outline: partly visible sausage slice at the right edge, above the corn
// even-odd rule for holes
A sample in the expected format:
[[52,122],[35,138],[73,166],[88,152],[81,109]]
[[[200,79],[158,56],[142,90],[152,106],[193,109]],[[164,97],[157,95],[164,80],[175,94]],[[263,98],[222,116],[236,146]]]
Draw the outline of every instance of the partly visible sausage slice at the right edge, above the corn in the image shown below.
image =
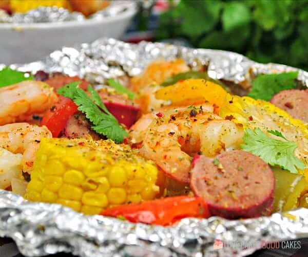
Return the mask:
[[283,90],[272,98],[271,103],[283,109],[292,117],[308,122],[307,90]]

